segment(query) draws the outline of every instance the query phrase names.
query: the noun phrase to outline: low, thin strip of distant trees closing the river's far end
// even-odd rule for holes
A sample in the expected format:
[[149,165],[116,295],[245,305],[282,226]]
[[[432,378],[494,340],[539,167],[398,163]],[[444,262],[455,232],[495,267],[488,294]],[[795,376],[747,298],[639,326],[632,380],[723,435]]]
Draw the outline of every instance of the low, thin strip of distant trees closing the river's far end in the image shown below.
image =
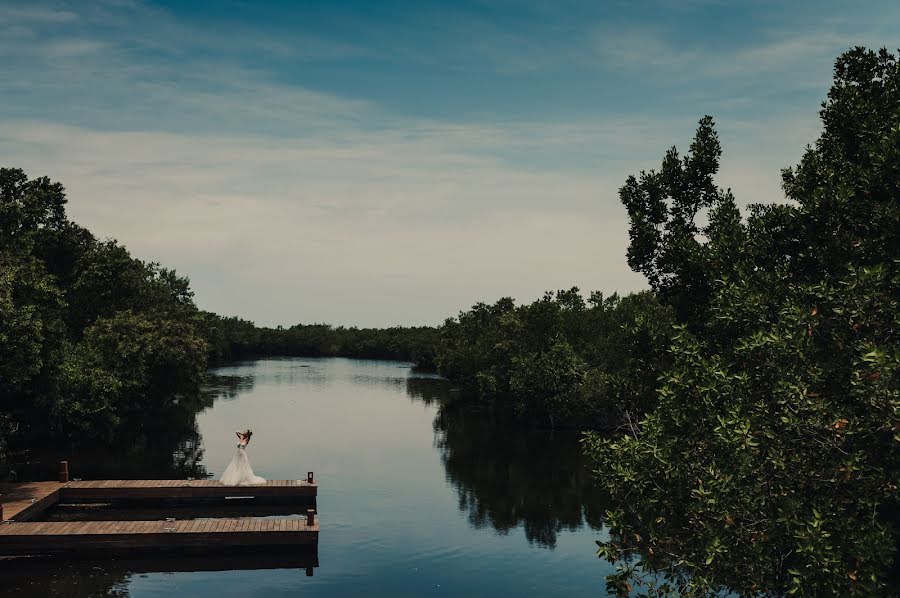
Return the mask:
[[410,361],[434,370],[438,329],[428,326],[344,328],[297,324],[257,328],[253,322],[206,312],[210,359],[221,363],[261,356],[354,357]]

